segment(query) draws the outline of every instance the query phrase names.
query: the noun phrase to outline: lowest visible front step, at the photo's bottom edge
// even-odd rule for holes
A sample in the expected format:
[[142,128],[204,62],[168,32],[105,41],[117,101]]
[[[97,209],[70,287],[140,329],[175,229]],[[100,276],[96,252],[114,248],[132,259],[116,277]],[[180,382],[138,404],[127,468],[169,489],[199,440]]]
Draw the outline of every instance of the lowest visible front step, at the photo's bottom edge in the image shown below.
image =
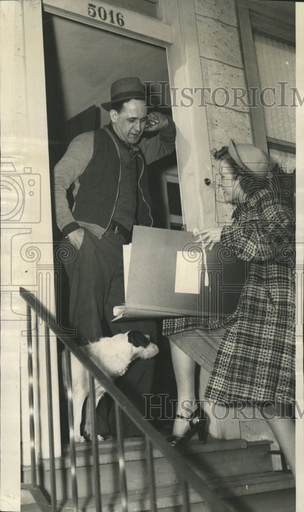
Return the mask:
[[[235,506],[237,512],[294,512],[295,489],[291,474],[267,472],[233,478],[221,478],[210,482],[211,488],[218,490],[223,498]],[[286,493],[284,491],[286,490]],[[280,493],[280,499],[278,498]],[[285,499],[283,500],[283,496]],[[192,504],[191,512],[210,512],[210,508],[201,497],[191,488],[189,499]],[[157,509],[163,512],[181,512],[183,503],[180,485],[161,486],[156,490]],[[276,503],[274,508],[273,503]],[[119,512],[121,509],[119,493],[102,495],[103,512]],[[285,508],[282,508],[285,506]],[[288,508],[286,508],[288,507]],[[73,509],[72,500],[62,503],[60,510],[70,512]],[[79,509],[82,512],[94,512],[95,500],[80,498]],[[144,512],[151,510],[148,489],[132,489],[128,491],[129,512]],[[25,511],[24,511],[25,512]]]

